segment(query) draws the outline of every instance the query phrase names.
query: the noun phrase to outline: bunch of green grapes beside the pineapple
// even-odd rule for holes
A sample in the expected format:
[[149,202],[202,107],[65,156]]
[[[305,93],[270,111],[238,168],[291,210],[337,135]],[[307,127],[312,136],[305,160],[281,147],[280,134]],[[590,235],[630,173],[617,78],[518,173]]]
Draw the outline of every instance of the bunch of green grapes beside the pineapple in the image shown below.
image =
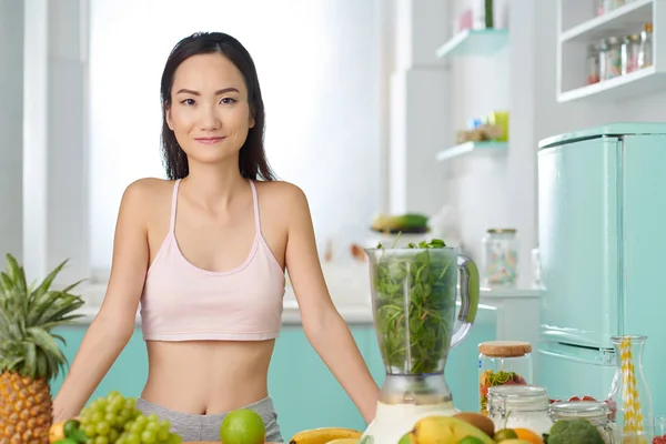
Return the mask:
[[144,415],[137,400],[111,392],[81,411],[81,430],[87,444],[181,444],[171,424],[158,415]]

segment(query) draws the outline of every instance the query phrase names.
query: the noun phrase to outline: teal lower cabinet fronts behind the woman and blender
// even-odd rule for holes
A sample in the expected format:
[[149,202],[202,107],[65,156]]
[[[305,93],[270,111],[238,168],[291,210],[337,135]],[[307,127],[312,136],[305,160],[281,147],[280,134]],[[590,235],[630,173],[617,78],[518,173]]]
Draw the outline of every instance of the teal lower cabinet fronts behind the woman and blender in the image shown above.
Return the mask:
[[[60,329],[67,340],[64,354],[72,362],[88,325]],[[371,324],[352,325],[352,334],[376,383],[385,372],[375,331]],[[451,351],[446,381],[455,405],[465,411],[478,410],[477,351],[482,341],[495,339],[494,311],[480,310],[477,322],[467,339]],[[141,330],[137,329],[128,346],[102,380],[91,400],[118,390],[138,397],[148,376],[148,355]],[[52,382],[56,395],[63,375]],[[324,426],[364,430],[365,422],[324,362],[319,357],[300,325],[286,325],[275,343],[269,373],[269,391],[279,414],[282,434],[289,440],[296,432]]]

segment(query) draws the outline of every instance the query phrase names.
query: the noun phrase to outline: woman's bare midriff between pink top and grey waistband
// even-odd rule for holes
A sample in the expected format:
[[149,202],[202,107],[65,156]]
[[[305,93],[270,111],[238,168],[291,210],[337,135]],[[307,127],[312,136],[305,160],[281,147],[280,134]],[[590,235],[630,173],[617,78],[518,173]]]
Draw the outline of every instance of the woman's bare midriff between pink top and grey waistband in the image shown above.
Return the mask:
[[192,415],[240,408],[268,395],[275,341],[147,341],[145,401]]

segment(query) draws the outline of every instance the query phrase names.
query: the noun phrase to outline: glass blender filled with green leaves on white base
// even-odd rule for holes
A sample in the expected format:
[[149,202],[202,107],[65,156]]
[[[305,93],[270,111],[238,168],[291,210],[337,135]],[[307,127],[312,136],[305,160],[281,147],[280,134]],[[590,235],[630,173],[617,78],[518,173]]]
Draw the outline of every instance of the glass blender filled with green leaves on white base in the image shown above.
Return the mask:
[[386,380],[363,436],[375,444],[395,444],[418,418],[458,412],[444,367],[448,351],[465,339],[476,316],[478,269],[440,240],[396,249],[379,245],[365,253]]

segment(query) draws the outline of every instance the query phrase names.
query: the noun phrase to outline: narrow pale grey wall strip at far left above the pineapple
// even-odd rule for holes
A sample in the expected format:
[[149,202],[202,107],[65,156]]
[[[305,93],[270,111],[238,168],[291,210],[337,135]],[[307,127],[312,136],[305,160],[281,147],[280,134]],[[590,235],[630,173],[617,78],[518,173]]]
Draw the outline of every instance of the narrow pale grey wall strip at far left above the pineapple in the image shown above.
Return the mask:
[[0,0],[0,260],[22,260],[23,4],[14,0]]

